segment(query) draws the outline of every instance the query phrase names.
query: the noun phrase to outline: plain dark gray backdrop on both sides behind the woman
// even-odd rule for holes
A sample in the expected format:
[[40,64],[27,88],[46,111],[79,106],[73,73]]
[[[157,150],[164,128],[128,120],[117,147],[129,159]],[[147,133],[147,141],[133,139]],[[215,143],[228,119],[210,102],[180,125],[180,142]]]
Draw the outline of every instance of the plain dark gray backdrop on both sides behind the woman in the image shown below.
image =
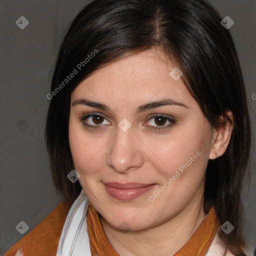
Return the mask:
[[[86,0],[0,1],[0,255],[23,236],[15,228],[21,220],[30,231],[62,200],[51,181],[43,139],[49,103],[46,94],[61,32],[86,3]],[[255,136],[256,99],[252,95],[256,93],[256,1],[210,0],[210,3],[222,17],[228,15],[234,20],[229,30],[244,74]],[[15,24],[20,16],[29,21],[24,29]],[[253,158],[255,162],[255,148]],[[251,169],[251,185],[249,189],[245,187],[243,200],[248,255],[252,255],[256,246],[253,161]]]

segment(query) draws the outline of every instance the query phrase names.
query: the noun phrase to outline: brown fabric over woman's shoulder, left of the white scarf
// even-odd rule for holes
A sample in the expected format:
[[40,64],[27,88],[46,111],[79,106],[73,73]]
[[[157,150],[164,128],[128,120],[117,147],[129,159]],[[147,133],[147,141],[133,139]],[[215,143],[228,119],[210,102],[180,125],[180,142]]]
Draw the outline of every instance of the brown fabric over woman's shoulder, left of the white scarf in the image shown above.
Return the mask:
[[56,254],[68,210],[64,202],[59,203],[28,234],[12,245],[4,256],[14,256],[19,248],[23,249],[24,256]]

